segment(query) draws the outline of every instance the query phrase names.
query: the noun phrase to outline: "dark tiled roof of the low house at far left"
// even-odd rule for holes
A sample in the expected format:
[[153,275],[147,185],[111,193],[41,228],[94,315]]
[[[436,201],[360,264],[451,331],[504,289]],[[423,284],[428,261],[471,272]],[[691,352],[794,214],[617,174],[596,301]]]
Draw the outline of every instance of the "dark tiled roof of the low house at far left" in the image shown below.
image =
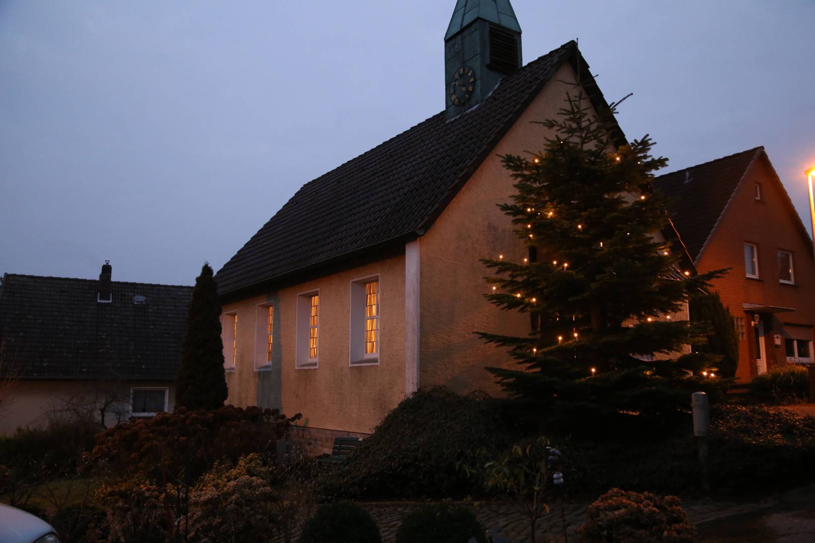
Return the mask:
[[[4,356],[27,379],[173,380],[192,287],[8,274],[0,289]],[[134,296],[144,304],[134,304]]]

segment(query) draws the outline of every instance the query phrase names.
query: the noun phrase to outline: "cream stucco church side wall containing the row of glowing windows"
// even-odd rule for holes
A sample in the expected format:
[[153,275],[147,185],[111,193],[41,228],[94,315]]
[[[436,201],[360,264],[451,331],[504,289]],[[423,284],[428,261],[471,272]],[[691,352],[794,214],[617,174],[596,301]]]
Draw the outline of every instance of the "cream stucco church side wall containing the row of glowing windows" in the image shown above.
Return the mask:
[[[351,282],[378,274],[381,346],[377,366],[350,366]],[[319,289],[319,366],[297,369],[297,296]],[[405,259],[396,256],[330,274],[280,291],[223,306],[238,314],[236,369],[227,372],[233,405],[302,413],[308,427],[368,433],[404,398]],[[271,370],[257,371],[255,317],[258,304],[275,306]],[[231,348],[231,346],[230,346]]]

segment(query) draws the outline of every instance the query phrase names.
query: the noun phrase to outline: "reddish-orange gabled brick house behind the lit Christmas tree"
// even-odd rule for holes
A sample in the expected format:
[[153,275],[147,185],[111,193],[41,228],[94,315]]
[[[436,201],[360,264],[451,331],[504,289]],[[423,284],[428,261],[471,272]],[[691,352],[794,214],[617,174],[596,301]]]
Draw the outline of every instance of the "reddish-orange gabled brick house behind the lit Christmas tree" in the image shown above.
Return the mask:
[[736,319],[736,376],[813,363],[815,260],[804,223],[764,147],[658,177],[700,273],[732,268],[713,289]]

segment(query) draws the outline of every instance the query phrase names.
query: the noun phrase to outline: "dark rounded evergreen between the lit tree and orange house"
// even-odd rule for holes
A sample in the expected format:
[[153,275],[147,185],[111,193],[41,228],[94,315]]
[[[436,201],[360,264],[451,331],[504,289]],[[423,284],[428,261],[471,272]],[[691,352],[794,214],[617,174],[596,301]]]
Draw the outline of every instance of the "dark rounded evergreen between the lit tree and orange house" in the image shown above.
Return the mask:
[[718,292],[700,292],[690,299],[690,322],[710,326],[707,342],[694,345],[700,353],[720,355],[719,372],[726,377],[733,377],[738,368],[738,334],[736,322],[730,310],[721,303]]

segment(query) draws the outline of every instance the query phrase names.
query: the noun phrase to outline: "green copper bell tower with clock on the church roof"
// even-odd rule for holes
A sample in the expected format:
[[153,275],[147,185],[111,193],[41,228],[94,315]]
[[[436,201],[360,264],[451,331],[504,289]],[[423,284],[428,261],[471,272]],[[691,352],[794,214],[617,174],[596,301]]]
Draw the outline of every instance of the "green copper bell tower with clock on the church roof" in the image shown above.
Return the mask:
[[447,118],[481,103],[521,66],[521,25],[509,0],[457,0],[444,36]]

